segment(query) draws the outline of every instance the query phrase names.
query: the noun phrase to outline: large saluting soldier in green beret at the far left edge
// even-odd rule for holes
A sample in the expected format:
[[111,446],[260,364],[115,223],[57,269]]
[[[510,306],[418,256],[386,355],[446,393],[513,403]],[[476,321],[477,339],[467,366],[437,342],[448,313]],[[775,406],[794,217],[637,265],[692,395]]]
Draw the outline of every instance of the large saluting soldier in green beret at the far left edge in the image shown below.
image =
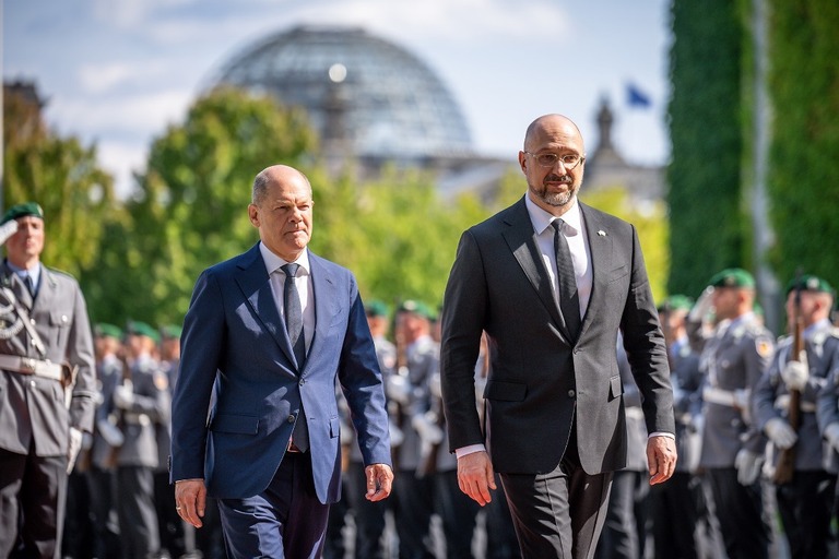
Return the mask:
[[[14,222],[14,223],[12,223]],[[68,472],[93,430],[96,373],[84,296],[40,262],[44,211],[13,205],[0,224],[0,557],[58,557]]]

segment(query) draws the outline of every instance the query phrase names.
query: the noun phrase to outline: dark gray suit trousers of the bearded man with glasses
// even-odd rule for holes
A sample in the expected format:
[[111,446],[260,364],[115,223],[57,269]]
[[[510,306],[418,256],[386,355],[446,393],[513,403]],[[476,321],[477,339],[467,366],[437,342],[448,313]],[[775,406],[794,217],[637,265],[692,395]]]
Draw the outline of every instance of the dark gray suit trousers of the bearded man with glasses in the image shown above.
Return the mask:
[[568,449],[547,474],[501,474],[523,559],[594,556],[613,473],[587,474],[574,440]]

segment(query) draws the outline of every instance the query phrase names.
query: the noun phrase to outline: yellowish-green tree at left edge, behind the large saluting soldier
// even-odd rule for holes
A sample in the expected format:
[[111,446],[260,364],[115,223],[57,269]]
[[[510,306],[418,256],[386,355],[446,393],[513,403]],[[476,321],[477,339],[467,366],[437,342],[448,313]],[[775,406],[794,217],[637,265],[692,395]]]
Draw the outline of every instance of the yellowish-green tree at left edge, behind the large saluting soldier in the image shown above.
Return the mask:
[[40,204],[47,231],[42,260],[79,277],[95,260],[103,224],[115,209],[114,179],[96,163],[95,145],[57,134],[37,102],[4,92],[3,207]]

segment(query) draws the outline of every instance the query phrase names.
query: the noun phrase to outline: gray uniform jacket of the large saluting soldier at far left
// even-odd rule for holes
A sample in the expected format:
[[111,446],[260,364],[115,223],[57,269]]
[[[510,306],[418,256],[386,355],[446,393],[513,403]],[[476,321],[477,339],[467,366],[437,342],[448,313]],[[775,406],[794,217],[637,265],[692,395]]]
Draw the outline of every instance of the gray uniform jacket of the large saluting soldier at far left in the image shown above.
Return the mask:
[[70,427],[93,430],[96,372],[84,296],[73,277],[44,265],[35,300],[5,262],[0,263],[0,287],[13,293],[27,310],[47,355],[38,354],[20,317],[5,301],[0,308],[0,354],[79,368],[69,408],[59,381],[7,370],[0,373],[0,448],[27,454],[34,444],[38,456],[67,454]]

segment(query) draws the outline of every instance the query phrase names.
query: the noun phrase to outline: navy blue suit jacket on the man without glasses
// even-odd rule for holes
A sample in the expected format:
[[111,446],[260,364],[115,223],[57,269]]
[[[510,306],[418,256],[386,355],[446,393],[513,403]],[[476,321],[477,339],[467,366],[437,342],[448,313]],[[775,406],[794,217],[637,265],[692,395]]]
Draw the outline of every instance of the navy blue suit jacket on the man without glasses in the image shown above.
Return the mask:
[[283,460],[303,404],[318,498],[336,501],[336,379],[365,464],[390,464],[381,373],[355,277],[311,252],[309,263],[316,328],[302,370],[259,245],[199,277],[173,399],[173,480],[203,478],[216,498],[258,495]]

